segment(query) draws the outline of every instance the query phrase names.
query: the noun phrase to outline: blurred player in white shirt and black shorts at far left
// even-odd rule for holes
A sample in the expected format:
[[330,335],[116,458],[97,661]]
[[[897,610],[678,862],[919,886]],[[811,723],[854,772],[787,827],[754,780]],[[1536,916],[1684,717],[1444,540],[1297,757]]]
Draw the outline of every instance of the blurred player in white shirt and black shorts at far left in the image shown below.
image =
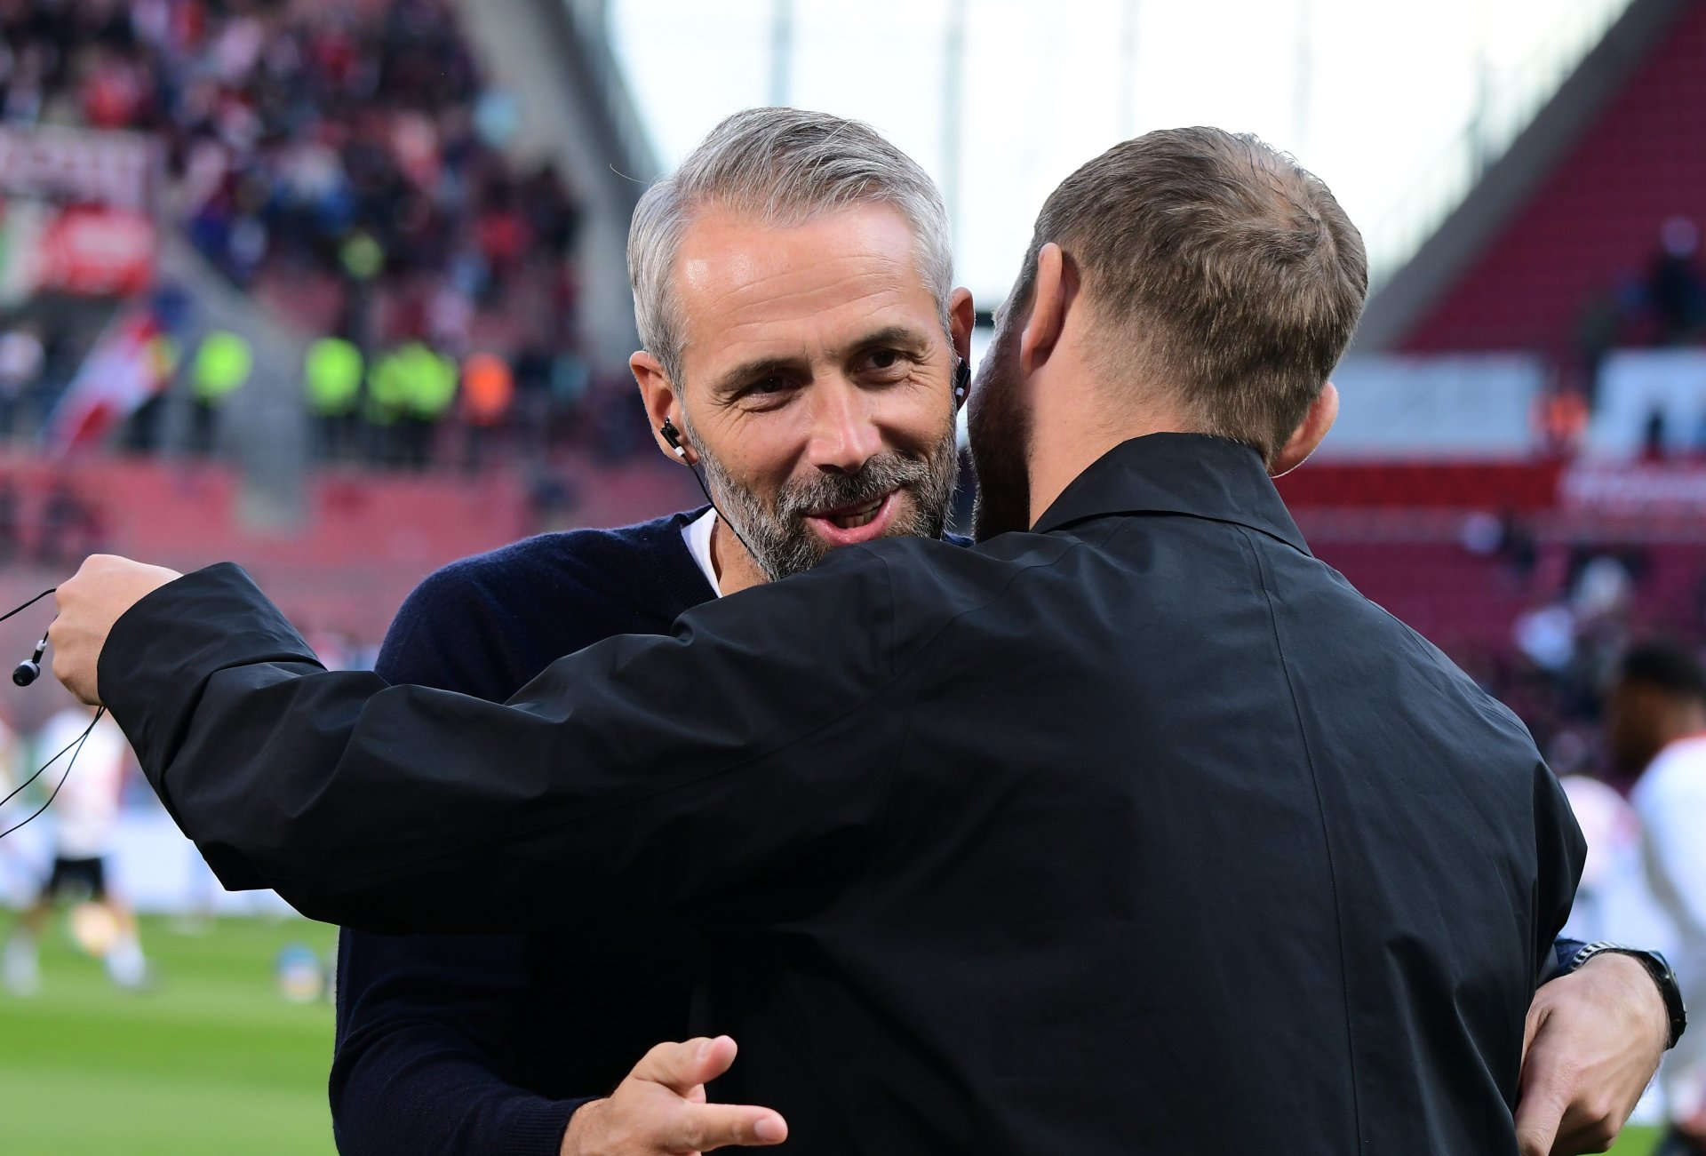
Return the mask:
[[[92,718],[94,711],[84,706],[70,706],[49,718],[36,743],[41,760],[73,747]],[[53,870],[36,900],[19,916],[0,963],[7,991],[15,996],[27,996],[39,985],[38,941],[55,905],[63,900],[78,904],[72,931],[85,950],[102,957],[114,984],[135,989],[148,979],[136,916],[109,892],[106,870],[130,747],[118,725],[102,718],[80,750],[67,750],[65,760],[72,754],[77,762],[53,801]]]

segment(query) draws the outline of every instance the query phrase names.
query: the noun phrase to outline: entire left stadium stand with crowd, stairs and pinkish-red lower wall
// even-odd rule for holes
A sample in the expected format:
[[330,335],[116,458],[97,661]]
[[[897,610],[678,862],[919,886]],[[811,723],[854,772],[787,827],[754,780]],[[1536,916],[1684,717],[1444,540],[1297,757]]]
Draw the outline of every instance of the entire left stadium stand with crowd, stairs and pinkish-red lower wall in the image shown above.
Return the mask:
[[372,643],[452,558],[691,503],[633,454],[653,162],[583,9],[0,0],[7,597],[242,558]]

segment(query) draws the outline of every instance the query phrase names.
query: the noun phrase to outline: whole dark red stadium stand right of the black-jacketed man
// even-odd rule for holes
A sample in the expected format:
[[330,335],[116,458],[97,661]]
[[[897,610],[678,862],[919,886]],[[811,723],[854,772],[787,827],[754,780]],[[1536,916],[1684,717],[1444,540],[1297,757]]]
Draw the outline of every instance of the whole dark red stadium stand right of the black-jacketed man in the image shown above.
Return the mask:
[[1629,639],[1706,644],[1703,55],[1706,3],[1621,12],[1375,286],[1348,419],[1281,481],[1315,552],[1559,772],[1609,771],[1600,691]]

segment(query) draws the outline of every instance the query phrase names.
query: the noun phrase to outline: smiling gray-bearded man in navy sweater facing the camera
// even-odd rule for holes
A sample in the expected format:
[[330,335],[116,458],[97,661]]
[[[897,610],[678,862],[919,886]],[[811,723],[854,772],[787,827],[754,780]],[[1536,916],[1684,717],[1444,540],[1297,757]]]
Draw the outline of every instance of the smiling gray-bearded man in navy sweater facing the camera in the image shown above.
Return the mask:
[[[502,702],[561,655],[609,634],[664,634],[684,610],[809,569],[838,546],[942,535],[971,303],[947,280],[947,222],[928,176],[870,130],[805,113],[747,114],[706,148],[773,155],[781,179],[834,148],[843,172],[824,196],[860,182],[887,189],[863,210],[868,227],[793,234],[718,222],[717,232],[701,223],[684,237],[699,271],[674,286],[686,351],[670,355],[667,379],[650,355],[635,356],[635,373],[653,430],[670,421],[681,454],[664,435],[659,448],[705,471],[728,520],[701,506],[454,563],[421,583],[392,622],[377,662],[387,680]],[[713,176],[689,160],[676,188],[688,196]],[[653,198],[652,206],[660,211],[641,215],[636,235],[670,230],[667,203]],[[913,234],[928,247],[916,268]],[[717,312],[708,269],[747,254],[775,263],[775,315],[756,319],[749,297],[739,317]],[[887,269],[892,285],[841,276],[850,266]],[[880,322],[868,314],[873,292],[892,298]],[[805,309],[785,309],[793,302]],[[510,936],[346,929],[331,1076],[339,1151],[640,1156],[672,1151],[667,1142],[684,1137],[682,1127],[722,1129],[698,1139],[756,1139],[751,1127],[763,1113],[706,1124],[684,1120],[674,1091],[635,1095],[686,1095],[728,1064],[727,1043],[703,1059],[681,1047],[648,1054],[691,1033],[701,968],[698,934],[665,919],[595,934],[572,917]],[[641,1055],[624,1093],[585,1107]],[[645,1139],[616,1146],[638,1117]]]

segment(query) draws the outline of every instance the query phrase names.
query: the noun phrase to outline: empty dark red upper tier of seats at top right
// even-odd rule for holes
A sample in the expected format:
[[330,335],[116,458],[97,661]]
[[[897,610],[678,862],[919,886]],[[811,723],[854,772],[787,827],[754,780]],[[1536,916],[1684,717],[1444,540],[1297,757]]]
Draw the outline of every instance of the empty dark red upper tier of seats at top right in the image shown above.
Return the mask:
[[1358,348],[1573,358],[1595,305],[1645,293],[1665,222],[1706,220],[1703,53],[1706,5],[1631,3],[1370,300]]

